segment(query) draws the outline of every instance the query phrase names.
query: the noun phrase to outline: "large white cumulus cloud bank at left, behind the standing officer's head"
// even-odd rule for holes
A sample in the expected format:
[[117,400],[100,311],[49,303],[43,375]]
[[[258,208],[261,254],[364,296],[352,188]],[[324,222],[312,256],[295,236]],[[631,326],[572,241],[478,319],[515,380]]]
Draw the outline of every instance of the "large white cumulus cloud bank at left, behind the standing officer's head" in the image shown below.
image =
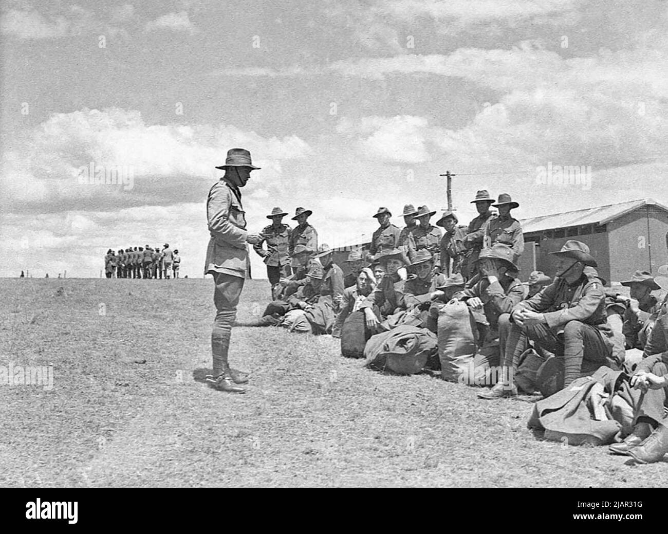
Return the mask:
[[[281,162],[311,153],[297,136],[263,138],[228,124],[151,125],[134,110],[83,109],[54,114],[3,154],[0,203],[10,211],[63,211],[194,201],[220,175],[214,166],[233,146],[251,150],[267,194],[281,190]],[[81,184],[91,163],[132,172],[132,188]]]

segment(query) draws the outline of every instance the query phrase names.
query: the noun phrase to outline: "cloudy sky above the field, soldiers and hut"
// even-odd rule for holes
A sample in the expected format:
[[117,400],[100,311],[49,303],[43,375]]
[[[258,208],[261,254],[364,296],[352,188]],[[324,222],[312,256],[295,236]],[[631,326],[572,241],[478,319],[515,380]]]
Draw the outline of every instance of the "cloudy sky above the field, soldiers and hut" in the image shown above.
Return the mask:
[[[108,248],[167,241],[201,277],[236,146],[262,167],[249,229],[304,206],[330,245],[379,206],[441,209],[446,170],[466,223],[479,188],[518,218],[668,203],[665,0],[1,5],[0,276],[97,277]],[[536,183],[548,163],[591,187]],[[90,164],[132,187],[79,183]]]

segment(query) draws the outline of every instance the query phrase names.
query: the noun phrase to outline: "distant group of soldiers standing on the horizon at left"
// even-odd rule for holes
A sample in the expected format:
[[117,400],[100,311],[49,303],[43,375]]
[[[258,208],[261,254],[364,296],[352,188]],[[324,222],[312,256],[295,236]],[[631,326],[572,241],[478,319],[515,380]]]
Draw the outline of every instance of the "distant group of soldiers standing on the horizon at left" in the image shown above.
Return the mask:
[[181,258],[178,249],[170,249],[168,243],[152,248],[130,247],[114,253],[109,249],[104,257],[104,272],[107,278],[178,278]]

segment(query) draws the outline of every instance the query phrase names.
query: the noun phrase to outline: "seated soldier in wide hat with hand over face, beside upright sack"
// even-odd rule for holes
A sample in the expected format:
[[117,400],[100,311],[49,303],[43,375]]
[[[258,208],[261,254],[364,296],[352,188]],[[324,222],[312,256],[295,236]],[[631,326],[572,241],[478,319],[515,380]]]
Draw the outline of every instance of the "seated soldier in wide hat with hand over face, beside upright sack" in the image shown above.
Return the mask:
[[[502,313],[510,313],[524,299],[524,286],[513,275],[518,269],[513,263],[514,257],[514,251],[504,243],[483,249],[476,260],[476,276],[480,279],[453,297],[454,300],[465,301],[472,309],[480,333],[474,358],[474,376],[470,377],[474,379],[474,384],[488,384],[480,377],[491,379],[493,375],[488,374],[488,370],[498,368],[500,356],[506,348],[506,340],[499,335],[498,319]],[[488,385],[494,385],[494,382]]]

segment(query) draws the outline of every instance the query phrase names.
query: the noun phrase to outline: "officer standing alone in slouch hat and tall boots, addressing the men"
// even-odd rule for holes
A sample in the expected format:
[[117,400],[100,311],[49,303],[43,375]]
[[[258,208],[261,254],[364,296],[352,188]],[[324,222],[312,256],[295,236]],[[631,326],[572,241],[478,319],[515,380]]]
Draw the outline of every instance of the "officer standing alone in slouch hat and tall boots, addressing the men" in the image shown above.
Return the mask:
[[225,174],[209,190],[206,201],[211,238],[206,249],[204,274],[212,274],[216,284],[213,297],[216,319],[211,332],[213,373],[206,376],[206,381],[220,391],[244,393],[246,390],[234,384],[244,384],[248,377],[230,367],[228,351],[236,305],[248,269],[246,243],[255,245],[261,239],[258,234],[246,231],[240,188],[251,178],[251,171],[259,167],[253,165],[251,152],[231,148],[225,164],[216,168],[223,169]]

